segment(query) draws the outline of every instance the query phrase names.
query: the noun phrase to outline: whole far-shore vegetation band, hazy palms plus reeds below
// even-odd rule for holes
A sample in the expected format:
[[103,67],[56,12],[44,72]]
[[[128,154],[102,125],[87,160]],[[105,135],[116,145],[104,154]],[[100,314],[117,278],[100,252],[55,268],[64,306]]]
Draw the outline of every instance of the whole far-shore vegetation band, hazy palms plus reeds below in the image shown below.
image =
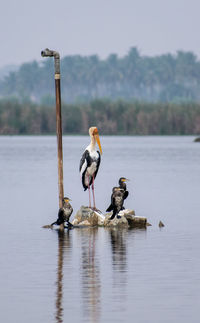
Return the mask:
[[[191,52],[61,60],[63,133],[200,134],[200,61]],[[20,66],[0,80],[0,134],[53,134],[53,59]],[[109,98],[109,99],[106,99]]]

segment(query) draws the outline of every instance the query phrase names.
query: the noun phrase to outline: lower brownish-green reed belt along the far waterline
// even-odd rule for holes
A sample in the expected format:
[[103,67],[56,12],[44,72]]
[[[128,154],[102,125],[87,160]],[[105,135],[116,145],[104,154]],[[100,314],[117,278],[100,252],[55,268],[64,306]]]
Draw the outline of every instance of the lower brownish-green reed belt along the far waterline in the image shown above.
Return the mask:
[[[64,134],[88,134],[98,126],[105,135],[197,135],[200,104],[149,104],[94,100],[87,104],[63,104]],[[0,101],[0,134],[54,134],[55,107]]]

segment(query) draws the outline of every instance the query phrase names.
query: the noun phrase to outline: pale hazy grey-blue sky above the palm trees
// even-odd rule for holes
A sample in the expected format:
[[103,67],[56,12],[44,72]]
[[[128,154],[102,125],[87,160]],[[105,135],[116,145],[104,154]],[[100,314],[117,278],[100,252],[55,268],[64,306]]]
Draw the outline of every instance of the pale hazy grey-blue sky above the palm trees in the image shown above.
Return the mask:
[[123,56],[191,50],[200,57],[200,0],[5,0],[0,67],[36,59],[49,47],[69,54]]

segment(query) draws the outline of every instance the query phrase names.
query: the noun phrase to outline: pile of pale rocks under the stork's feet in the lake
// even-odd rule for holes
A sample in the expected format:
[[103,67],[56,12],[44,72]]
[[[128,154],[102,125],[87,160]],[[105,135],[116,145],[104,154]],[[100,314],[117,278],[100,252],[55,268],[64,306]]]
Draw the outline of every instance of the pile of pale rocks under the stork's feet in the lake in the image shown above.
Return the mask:
[[80,210],[75,215],[72,222],[75,226],[104,226],[104,227],[119,227],[119,228],[145,228],[147,219],[135,215],[134,210],[122,210],[118,216],[110,220],[111,213],[103,215],[101,211],[94,211],[88,207],[81,206]]

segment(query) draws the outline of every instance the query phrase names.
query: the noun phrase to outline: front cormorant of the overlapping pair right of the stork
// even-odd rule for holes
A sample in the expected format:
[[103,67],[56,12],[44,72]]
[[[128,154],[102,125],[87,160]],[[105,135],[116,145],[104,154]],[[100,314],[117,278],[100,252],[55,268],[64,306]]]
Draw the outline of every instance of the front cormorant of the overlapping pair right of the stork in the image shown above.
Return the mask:
[[113,187],[111,195],[111,204],[106,210],[107,212],[113,211],[110,220],[114,219],[115,215],[118,215],[118,213],[124,209],[124,194],[125,191],[120,187]]

